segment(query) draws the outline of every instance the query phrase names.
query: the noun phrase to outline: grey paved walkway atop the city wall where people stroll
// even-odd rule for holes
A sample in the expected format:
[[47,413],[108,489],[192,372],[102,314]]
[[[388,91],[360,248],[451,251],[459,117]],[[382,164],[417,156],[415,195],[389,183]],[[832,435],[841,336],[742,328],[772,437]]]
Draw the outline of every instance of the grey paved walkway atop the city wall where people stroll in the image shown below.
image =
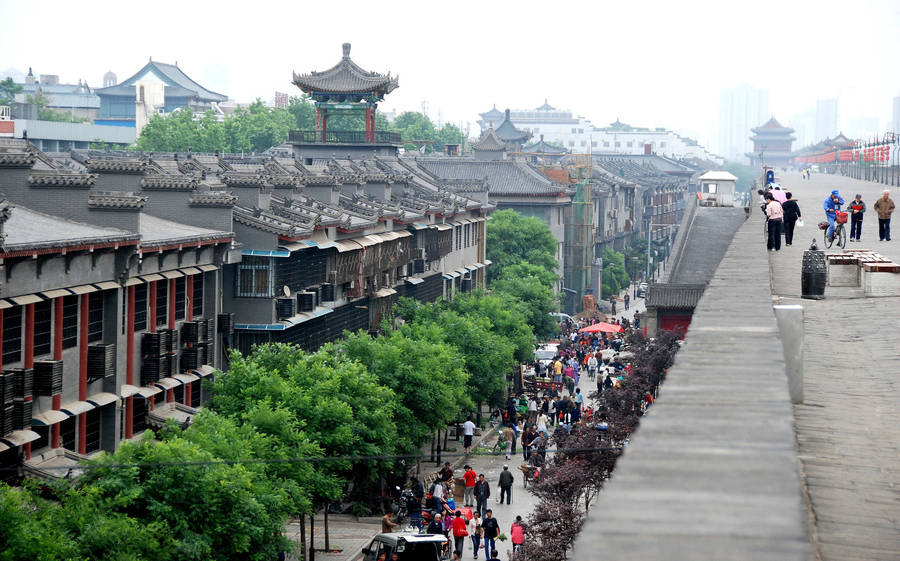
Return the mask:
[[[900,262],[900,241],[878,241],[878,221],[871,210],[885,186],[815,174],[809,181],[787,174],[782,185],[799,199],[808,224],[795,234],[795,245],[770,255],[775,294],[784,303],[804,307],[805,400],[794,407],[794,416],[813,554],[823,561],[896,561],[900,298],[866,298],[859,288],[828,287],[825,300],[799,299],[802,253],[813,236],[822,245],[814,225],[824,219],[822,202],[832,189],[840,190],[846,201],[862,194],[870,209],[863,218],[863,241],[848,242],[847,248],[873,249]],[[758,212],[756,219],[761,229]],[[892,222],[900,228],[900,216]],[[760,244],[761,239],[760,234]]]

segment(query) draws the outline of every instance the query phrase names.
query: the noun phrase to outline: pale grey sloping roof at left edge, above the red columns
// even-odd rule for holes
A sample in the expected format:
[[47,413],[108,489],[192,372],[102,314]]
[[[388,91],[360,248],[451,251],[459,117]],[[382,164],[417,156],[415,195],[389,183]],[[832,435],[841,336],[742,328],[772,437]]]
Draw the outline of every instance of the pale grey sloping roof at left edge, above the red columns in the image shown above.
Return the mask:
[[4,224],[6,252],[138,239],[137,234],[125,230],[67,220],[19,205],[9,206],[9,218]]

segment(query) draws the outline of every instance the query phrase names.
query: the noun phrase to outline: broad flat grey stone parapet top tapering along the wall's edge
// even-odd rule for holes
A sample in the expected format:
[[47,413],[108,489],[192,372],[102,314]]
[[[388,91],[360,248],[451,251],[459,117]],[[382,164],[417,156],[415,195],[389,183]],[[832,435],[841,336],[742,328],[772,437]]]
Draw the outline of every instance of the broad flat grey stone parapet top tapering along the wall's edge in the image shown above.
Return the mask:
[[748,220],[735,235],[658,401],[591,509],[576,561],[808,559],[761,228]]

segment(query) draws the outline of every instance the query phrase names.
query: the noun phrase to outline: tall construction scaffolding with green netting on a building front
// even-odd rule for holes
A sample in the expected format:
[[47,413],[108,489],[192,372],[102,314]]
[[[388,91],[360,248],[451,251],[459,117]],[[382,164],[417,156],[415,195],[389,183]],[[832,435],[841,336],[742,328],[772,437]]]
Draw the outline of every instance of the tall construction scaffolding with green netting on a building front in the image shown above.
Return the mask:
[[[599,298],[599,287],[591,283],[594,255],[594,203],[592,198],[593,158],[591,154],[574,154],[574,189],[572,205],[565,214],[565,242],[563,243],[563,286],[566,291],[566,312],[583,311],[586,294]],[[590,312],[590,310],[587,310]]]

